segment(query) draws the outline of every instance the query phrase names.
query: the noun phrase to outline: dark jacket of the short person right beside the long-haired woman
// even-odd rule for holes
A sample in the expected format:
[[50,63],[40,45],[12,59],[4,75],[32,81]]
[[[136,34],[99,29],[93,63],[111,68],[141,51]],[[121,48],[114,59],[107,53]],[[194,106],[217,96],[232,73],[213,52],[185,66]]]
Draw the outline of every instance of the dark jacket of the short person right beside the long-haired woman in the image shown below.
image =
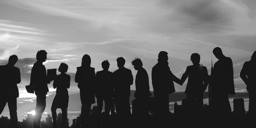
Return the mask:
[[113,97],[113,73],[110,71],[98,71],[96,73],[96,98]]

